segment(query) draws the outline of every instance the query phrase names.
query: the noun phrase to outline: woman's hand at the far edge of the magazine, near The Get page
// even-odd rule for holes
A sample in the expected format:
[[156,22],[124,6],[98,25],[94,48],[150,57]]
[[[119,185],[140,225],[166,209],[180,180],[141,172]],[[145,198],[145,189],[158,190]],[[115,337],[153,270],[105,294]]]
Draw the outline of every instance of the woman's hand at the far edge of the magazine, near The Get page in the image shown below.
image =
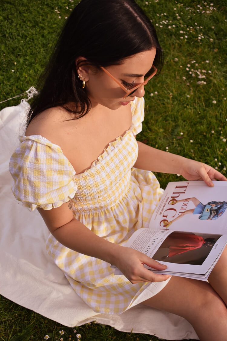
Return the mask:
[[227,181],[227,178],[216,169],[205,163],[186,159],[183,164],[181,175],[187,180],[204,180],[205,183],[213,187],[213,180]]

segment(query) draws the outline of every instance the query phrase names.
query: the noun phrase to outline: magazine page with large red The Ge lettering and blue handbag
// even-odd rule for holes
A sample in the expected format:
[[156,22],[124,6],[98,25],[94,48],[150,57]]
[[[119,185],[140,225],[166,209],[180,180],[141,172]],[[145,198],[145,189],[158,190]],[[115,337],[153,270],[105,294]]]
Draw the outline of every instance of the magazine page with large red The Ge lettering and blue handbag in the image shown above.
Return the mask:
[[200,233],[227,234],[227,182],[168,183],[156,207],[149,228]]

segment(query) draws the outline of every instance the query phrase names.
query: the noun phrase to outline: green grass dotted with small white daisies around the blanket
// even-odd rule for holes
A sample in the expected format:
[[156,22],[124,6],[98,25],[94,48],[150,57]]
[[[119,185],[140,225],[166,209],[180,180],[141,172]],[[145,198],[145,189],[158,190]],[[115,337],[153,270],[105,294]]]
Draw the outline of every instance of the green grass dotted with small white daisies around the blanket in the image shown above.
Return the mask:
[[[77,2],[1,2],[0,102],[36,85],[65,17]],[[138,139],[206,162],[226,176],[225,1],[137,2],[152,19],[165,53],[164,72],[146,86],[145,121]],[[206,78],[199,78],[200,75]],[[206,84],[197,84],[198,81]],[[18,103],[18,98],[10,100],[0,104],[0,109]],[[182,180],[176,175],[157,176],[162,187],[169,181]],[[71,340],[77,340],[73,328],[61,326],[4,297],[0,300],[0,318],[0,340],[3,341],[38,341],[44,340],[45,335],[50,336],[49,340],[56,340],[61,337],[62,329],[64,340],[69,335]],[[157,340],[96,323],[75,329],[81,334],[81,340]]]

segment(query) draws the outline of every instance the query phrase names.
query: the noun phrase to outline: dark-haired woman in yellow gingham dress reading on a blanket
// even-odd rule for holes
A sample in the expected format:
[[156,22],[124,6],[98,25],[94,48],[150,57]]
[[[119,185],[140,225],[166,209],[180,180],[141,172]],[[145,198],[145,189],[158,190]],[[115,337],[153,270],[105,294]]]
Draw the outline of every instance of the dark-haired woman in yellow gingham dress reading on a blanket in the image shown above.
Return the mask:
[[[224,340],[225,252],[208,284],[153,274],[143,265],[165,266],[124,247],[136,229],[148,227],[162,194],[150,170],[208,186],[227,180],[208,165],[136,142],[144,85],[162,62],[156,31],[133,0],[82,0],[12,155],[13,192],[38,209],[50,230],[49,255],[93,310],[119,314],[143,302],[185,317],[201,340]],[[114,276],[110,264],[125,276]]]

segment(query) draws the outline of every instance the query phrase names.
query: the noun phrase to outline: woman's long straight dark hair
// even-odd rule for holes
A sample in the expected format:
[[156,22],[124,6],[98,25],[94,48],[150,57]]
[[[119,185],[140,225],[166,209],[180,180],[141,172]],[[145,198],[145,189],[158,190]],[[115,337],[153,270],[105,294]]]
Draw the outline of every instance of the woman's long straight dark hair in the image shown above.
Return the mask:
[[[45,109],[62,106],[80,118],[91,109],[75,60],[95,67],[120,64],[125,58],[156,48],[153,64],[161,71],[163,51],[150,19],[134,0],[82,0],[68,17],[31,103],[27,126]],[[74,103],[74,109],[67,103]]]

